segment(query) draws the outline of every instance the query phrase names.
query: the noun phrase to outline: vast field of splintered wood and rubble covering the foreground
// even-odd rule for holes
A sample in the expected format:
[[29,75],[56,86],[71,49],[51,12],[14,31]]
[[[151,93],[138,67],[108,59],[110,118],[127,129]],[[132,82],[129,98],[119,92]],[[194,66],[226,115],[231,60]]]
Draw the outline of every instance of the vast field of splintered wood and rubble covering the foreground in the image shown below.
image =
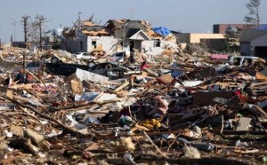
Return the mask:
[[[231,67],[219,61],[225,55],[198,46],[175,49],[145,64],[95,64],[100,70],[68,52],[64,61],[62,51],[4,50],[1,163],[265,162],[266,62]],[[106,56],[101,48],[94,55]],[[27,70],[32,82],[14,82],[18,73],[12,71],[22,66],[23,56],[69,74],[38,67]],[[52,57],[61,62],[51,63]],[[224,73],[216,69],[222,64],[229,64]]]

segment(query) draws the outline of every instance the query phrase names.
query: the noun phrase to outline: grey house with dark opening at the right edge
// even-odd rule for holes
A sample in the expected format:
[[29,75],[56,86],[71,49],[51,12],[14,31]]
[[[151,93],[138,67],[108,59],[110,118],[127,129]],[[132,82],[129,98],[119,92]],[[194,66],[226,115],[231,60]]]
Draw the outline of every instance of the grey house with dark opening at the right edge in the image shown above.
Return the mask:
[[267,30],[245,29],[240,36],[240,51],[242,56],[267,57]]

